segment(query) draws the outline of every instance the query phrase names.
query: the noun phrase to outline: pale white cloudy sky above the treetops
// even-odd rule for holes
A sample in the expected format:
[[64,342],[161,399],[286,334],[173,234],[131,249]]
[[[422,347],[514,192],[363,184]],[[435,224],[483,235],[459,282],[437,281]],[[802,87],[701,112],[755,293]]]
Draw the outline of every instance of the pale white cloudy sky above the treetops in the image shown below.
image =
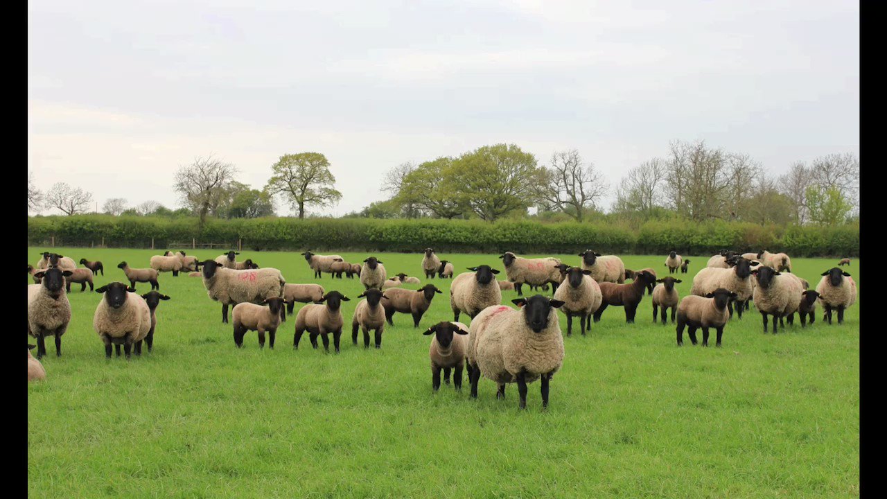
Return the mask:
[[859,154],[859,57],[847,0],[28,2],[28,170],[174,208],[195,156],[261,188],[317,151],[334,214],[497,142],[575,147],[613,184],[671,139],[780,172]]

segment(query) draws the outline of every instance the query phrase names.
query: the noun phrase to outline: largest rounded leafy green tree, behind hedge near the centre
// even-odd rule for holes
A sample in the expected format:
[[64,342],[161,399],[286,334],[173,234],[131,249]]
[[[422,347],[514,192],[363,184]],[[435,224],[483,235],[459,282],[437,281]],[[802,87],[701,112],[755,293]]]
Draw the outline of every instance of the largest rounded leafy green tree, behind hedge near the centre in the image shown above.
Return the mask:
[[456,199],[478,217],[493,222],[514,211],[526,212],[538,199],[536,157],[514,144],[478,147],[453,162]]

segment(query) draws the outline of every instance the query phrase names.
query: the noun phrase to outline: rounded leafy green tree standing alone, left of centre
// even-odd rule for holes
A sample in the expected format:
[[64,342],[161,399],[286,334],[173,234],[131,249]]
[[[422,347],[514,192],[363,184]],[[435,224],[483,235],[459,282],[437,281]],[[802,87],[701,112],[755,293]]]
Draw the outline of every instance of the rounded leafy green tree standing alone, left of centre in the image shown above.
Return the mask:
[[341,193],[333,188],[335,177],[329,167],[320,153],[284,154],[271,165],[273,175],[265,190],[282,194],[298,210],[299,218],[305,218],[305,206],[330,206],[341,199]]

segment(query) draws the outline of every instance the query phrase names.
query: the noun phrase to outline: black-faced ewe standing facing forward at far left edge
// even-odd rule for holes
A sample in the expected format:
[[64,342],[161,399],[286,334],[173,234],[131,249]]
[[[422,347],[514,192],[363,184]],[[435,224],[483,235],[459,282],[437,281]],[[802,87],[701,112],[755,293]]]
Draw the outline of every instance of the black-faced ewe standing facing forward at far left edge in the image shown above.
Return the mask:
[[51,267],[34,275],[41,282],[27,286],[27,334],[37,338],[37,359],[46,355],[45,337],[55,337],[56,356],[61,357],[61,337],[71,321],[65,293],[65,278],[71,271]]

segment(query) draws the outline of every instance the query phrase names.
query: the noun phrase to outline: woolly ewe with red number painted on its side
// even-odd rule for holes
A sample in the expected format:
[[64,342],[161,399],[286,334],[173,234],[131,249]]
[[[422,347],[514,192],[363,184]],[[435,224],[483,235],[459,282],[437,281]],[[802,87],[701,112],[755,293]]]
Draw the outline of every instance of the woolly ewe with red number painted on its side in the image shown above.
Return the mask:
[[[287,283],[283,274],[273,267],[257,270],[233,270],[216,263],[216,260],[203,262],[203,286],[207,295],[222,304],[222,322],[228,323],[228,305],[239,303],[262,303],[270,297],[283,297]],[[286,321],[286,313],[280,312],[281,321]]]

